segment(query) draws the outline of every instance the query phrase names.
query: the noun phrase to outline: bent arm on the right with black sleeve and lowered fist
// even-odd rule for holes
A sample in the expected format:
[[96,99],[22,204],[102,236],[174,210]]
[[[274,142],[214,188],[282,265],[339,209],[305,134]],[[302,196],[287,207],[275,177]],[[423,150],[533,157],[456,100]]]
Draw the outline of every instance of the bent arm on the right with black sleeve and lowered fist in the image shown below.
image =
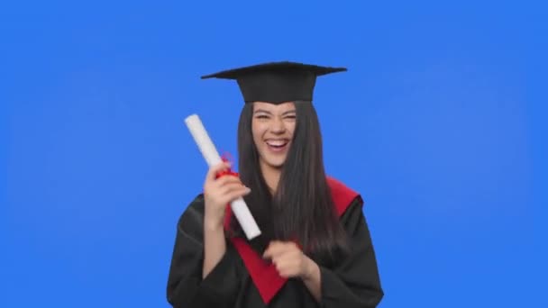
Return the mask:
[[300,277],[324,308],[376,307],[384,293],[380,286],[370,231],[356,199],[342,215],[350,253],[323,267],[306,257],[294,242],[273,241],[263,257],[269,258],[282,277]]

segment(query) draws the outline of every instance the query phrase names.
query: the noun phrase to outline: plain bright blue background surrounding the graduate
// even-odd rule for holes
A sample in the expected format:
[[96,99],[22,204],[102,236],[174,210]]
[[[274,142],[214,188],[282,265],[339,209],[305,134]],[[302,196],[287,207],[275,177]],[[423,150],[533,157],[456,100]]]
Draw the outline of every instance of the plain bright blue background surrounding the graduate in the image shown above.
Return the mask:
[[315,106],[365,198],[382,307],[546,307],[542,2],[18,2],[0,8],[0,306],[167,307],[175,226],[236,154],[237,86],[346,66]]

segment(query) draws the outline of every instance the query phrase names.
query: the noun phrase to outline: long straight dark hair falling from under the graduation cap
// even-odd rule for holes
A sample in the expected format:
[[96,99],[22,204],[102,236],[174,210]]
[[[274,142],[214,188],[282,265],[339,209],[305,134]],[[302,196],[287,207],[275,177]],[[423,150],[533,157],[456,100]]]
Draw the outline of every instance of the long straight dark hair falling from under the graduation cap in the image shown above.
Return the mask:
[[[332,259],[346,250],[345,233],[335,212],[324,171],[323,143],[311,102],[295,102],[297,124],[279,178],[271,195],[260,171],[259,153],[253,141],[253,104],[245,104],[238,125],[239,174],[251,194],[244,197],[260,229],[261,249],[269,240],[297,240],[310,256]],[[232,230],[242,234],[232,219]]]

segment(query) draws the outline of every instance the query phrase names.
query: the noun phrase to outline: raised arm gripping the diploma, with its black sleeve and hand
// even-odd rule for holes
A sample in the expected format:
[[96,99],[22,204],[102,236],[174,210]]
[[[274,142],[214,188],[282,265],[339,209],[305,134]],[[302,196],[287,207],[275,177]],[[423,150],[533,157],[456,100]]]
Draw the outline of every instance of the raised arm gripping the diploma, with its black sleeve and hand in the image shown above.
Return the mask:
[[238,257],[224,237],[224,207],[249,190],[235,177],[216,179],[223,168],[210,169],[204,195],[188,205],[178,222],[167,290],[173,307],[230,307],[238,292]]

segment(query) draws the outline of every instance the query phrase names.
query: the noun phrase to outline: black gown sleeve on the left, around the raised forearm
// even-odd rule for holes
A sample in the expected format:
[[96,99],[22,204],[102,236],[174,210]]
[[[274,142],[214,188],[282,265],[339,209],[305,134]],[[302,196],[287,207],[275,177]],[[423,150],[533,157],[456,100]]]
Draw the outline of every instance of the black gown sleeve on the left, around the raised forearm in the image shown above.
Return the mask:
[[168,302],[173,307],[231,307],[237,296],[240,279],[230,240],[226,241],[224,257],[202,278],[203,223],[204,199],[198,195],[177,224],[167,287]]

